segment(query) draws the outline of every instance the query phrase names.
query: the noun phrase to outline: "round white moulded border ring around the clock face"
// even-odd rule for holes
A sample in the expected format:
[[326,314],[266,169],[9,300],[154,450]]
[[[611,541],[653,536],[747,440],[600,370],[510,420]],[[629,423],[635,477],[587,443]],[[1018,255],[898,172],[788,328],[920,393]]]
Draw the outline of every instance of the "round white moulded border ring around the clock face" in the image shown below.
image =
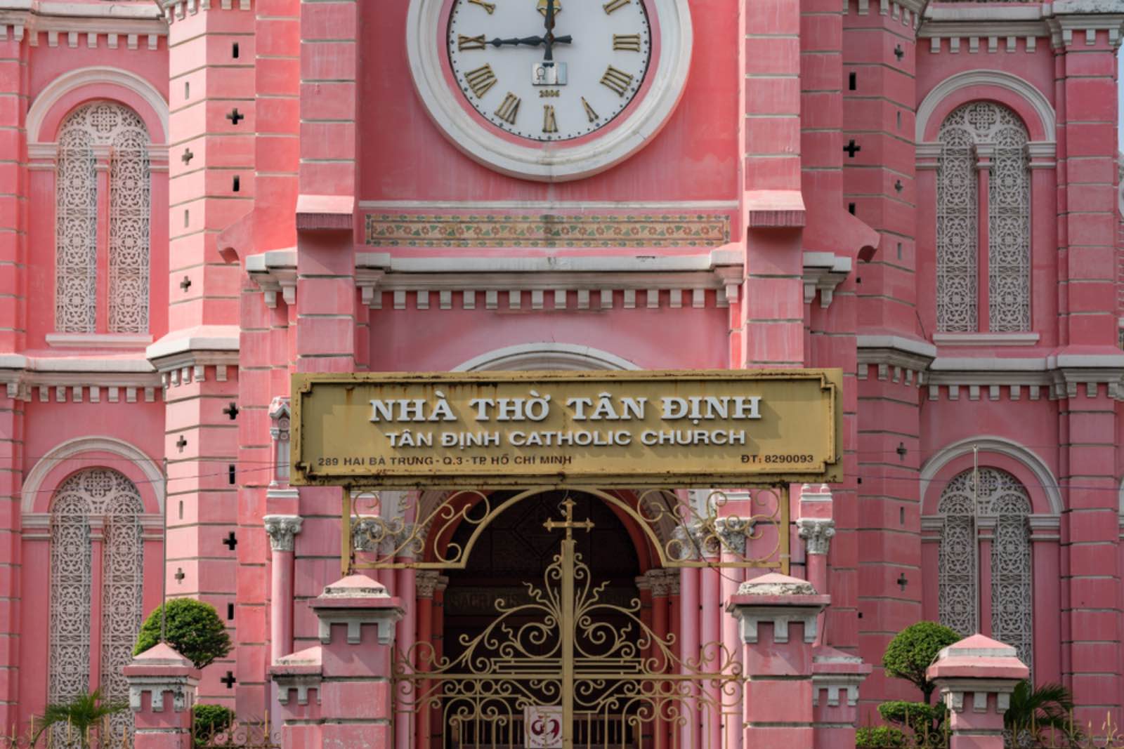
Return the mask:
[[[470,158],[510,176],[565,182],[591,176],[619,164],[643,148],[674,111],[687,84],[694,36],[686,0],[651,0],[659,27],[660,54],[650,63],[651,88],[611,130],[589,141],[565,146],[546,141],[523,146],[480,125],[451,90],[442,67],[445,45],[438,44],[447,19],[444,0],[410,0],[406,48],[418,95],[445,136]],[[650,12],[650,18],[653,13]],[[619,116],[618,116],[619,119]]]

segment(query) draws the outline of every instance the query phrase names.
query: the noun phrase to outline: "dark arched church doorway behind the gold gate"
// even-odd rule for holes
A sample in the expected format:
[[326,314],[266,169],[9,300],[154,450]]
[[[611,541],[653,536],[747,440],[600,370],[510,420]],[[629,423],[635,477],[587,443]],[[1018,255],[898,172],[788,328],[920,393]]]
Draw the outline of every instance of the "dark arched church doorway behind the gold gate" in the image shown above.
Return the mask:
[[720,646],[679,657],[667,587],[655,596],[656,581],[679,572],[646,568],[659,555],[629,527],[644,515],[626,499],[454,493],[423,517],[433,523],[423,564],[447,576],[443,634],[393,664],[395,712],[416,716],[418,746],[550,748],[564,733],[574,748],[717,749],[698,727],[729,720],[740,668]]

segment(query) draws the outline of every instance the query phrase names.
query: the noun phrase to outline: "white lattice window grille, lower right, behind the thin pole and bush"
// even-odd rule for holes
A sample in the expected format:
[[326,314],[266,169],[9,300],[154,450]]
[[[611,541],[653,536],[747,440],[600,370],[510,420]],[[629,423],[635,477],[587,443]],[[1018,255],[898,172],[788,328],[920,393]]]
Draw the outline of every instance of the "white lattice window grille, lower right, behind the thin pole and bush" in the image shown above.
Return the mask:
[[[1014,647],[1033,668],[1033,602],[1031,572],[1031,500],[1013,475],[980,468],[979,486],[966,471],[941,493],[937,608],[941,623],[964,637],[980,631],[981,567],[991,578],[991,633]],[[975,501],[973,501],[975,497]],[[973,506],[976,511],[973,512]],[[991,552],[980,549],[981,528],[994,528]]]

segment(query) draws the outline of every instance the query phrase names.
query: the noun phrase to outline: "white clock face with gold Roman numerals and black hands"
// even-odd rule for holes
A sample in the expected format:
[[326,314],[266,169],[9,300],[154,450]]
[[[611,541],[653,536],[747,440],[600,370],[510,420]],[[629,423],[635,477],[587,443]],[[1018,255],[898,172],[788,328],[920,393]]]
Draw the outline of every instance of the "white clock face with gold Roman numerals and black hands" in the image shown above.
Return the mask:
[[644,0],[453,0],[446,45],[469,104],[541,141],[613,121],[640,91],[652,51]]

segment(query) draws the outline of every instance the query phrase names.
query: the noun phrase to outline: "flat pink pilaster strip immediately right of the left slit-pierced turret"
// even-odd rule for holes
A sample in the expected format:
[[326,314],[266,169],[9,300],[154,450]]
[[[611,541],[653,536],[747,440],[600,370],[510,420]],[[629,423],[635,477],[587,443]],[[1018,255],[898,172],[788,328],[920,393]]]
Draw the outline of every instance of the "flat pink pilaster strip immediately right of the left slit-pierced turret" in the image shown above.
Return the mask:
[[[300,0],[260,0],[255,11],[255,180],[254,210],[230,231],[239,258],[288,249],[297,245],[294,209],[300,133]],[[226,238],[226,235],[224,235]],[[281,294],[265,304],[264,295],[245,275],[241,301],[241,387],[238,415],[238,576],[253,581],[239,586],[238,710],[247,714],[275,712],[270,705],[271,643],[270,550],[262,533],[269,513],[297,512],[296,490],[268,495],[270,468],[270,403],[289,394],[289,318],[296,314]],[[291,299],[291,296],[290,296]],[[270,468],[270,469],[268,469]],[[291,574],[291,570],[290,570]],[[287,650],[288,652],[288,650]]]

